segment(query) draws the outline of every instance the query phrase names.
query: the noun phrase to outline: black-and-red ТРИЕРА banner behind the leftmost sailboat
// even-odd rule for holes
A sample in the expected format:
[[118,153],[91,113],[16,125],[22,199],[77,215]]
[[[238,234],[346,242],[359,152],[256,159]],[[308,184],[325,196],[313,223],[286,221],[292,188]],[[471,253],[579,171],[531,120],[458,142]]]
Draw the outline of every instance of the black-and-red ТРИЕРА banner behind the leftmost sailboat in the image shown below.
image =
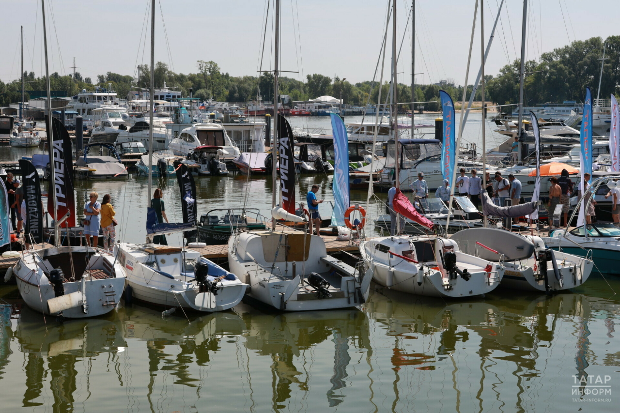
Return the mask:
[[[71,140],[63,123],[55,117],[45,117],[47,125],[48,148],[50,151],[50,167],[54,168],[54,180],[50,182],[50,195],[47,200],[47,210],[52,218],[60,220],[71,211],[71,216],[64,221],[63,226],[76,226],[76,198],[73,193],[73,155],[71,154]],[[53,133],[50,133],[52,127]],[[53,142],[50,138],[53,136]],[[58,211],[54,211],[54,199]],[[58,216],[56,217],[56,212]]]

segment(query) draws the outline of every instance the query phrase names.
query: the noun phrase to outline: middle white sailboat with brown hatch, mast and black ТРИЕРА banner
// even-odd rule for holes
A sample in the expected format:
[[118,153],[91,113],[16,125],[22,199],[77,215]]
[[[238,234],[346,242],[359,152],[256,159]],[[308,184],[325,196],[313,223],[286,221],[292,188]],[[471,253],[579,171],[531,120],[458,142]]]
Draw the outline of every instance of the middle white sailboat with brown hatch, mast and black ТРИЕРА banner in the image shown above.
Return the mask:
[[[278,55],[280,0],[275,3],[275,63],[273,83],[278,96]],[[228,241],[228,265],[249,287],[247,296],[286,311],[348,308],[368,298],[370,276],[327,255],[320,237],[285,226],[277,220],[305,223],[305,216],[295,215],[295,171],[293,130],[278,113],[274,113],[274,153],[280,154],[280,205],[276,205],[276,174],[272,174],[272,225],[265,231],[236,233]],[[276,159],[272,159],[276,171]]]

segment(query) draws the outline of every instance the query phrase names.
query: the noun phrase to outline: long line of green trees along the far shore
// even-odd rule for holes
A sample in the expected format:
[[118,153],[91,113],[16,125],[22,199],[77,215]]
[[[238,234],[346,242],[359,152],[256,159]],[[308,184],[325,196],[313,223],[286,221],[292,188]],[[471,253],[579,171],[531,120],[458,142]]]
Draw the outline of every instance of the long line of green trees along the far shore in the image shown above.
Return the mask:
[[[610,93],[620,92],[620,36],[610,36],[604,42],[600,37],[588,40],[578,40],[562,48],[543,53],[539,61],[530,60],[525,64],[525,105],[544,102],[562,102],[563,100],[577,100],[583,102],[585,87],[590,86],[596,93],[598,77],[600,75],[600,58],[603,55],[603,45],[606,46],[603,77],[601,81],[601,96],[608,97]],[[520,60],[515,60],[500,69],[496,76],[485,76],[486,96],[489,102],[496,104],[516,104],[519,98],[519,70]],[[45,77],[35,78],[35,73],[23,74],[28,91],[45,90]],[[122,99],[133,88],[148,89],[151,82],[151,71],[147,64],[138,68],[138,76],[123,75],[107,72],[100,74],[93,82],[90,78],[82,78],[81,74],[60,76],[58,73],[50,75],[50,84],[53,91],[62,91],[72,96],[82,89],[92,90],[94,86],[108,87],[112,85],[114,91]],[[155,87],[163,87],[164,82],[170,89],[181,91],[182,95],[189,96],[192,89],[193,97],[201,100],[214,99],[227,102],[249,102],[260,95],[267,102],[273,101],[273,74],[263,73],[262,76],[230,76],[223,73],[214,61],[197,61],[197,73],[174,73],[168,65],[157,62],[154,69]],[[463,95],[463,86],[455,86],[454,81],[443,81],[440,84],[415,85],[415,102],[430,102],[422,104],[425,110],[436,111],[440,89],[445,90],[453,99],[460,100]],[[305,81],[282,76],[279,78],[280,94],[290,95],[291,100],[314,99],[321,95],[342,97],[345,104],[364,106],[368,102],[376,104],[379,94],[379,82],[365,81],[350,83],[344,79],[330,78],[314,73],[306,76]],[[467,86],[466,99],[469,99],[473,85]],[[382,88],[382,100],[387,100],[389,82]],[[398,95],[401,102],[411,101],[411,86],[398,84]],[[370,100],[369,100],[370,98]],[[477,89],[474,100],[480,100],[481,90]],[[0,106],[19,102],[21,99],[21,78],[4,84],[0,81]],[[404,105],[407,109],[410,105]]]

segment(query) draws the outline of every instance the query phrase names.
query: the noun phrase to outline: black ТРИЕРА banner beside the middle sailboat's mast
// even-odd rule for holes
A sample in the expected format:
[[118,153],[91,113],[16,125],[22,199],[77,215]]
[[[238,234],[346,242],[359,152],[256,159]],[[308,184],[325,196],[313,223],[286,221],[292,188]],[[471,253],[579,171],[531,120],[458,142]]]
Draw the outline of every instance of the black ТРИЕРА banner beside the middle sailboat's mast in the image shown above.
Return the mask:
[[283,116],[278,116],[278,155],[280,156],[281,207],[295,213],[295,157],[293,154],[293,130]]

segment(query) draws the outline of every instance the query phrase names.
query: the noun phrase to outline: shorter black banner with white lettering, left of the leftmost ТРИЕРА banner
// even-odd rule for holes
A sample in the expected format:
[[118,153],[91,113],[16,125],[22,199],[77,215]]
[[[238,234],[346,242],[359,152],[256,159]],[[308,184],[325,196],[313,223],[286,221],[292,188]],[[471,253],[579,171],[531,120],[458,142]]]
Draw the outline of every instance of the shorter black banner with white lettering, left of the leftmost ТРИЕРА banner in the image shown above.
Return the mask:
[[22,188],[26,202],[25,237],[30,243],[43,242],[43,208],[41,205],[41,184],[37,169],[30,161],[19,159],[19,168],[22,170]]

